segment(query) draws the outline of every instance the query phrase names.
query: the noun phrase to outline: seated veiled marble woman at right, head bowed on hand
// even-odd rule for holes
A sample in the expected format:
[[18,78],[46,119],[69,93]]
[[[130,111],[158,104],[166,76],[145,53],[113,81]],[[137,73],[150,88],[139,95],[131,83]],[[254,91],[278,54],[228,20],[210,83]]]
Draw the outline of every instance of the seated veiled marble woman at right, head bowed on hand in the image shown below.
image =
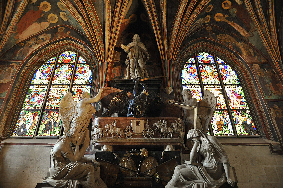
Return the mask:
[[194,142],[190,161],[202,166],[176,166],[172,179],[165,188],[216,188],[225,182],[234,187],[235,181],[231,179],[228,155],[218,139],[198,129],[190,129],[187,139]]

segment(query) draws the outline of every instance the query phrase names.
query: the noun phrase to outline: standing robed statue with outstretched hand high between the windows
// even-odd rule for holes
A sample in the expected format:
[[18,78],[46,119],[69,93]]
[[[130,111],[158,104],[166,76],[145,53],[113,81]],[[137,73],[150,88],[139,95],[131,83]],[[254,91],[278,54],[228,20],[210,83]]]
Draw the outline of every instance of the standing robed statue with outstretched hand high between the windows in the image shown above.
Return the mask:
[[135,34],[133,42],[125,46],[120,46],[125,52],[128,53],[126,59],[126,75],[124,79],[148,78],[146,70],[146,61],[149,60],[149,54],[144,44],[140,42],[140,36]]

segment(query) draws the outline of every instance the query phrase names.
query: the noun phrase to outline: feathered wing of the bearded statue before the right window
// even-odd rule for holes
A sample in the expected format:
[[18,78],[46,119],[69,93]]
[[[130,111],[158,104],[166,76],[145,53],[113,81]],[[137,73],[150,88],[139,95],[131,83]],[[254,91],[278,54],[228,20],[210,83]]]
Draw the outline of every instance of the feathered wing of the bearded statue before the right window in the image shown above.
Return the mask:
[[203,98],[201,101],[199,101],[200,109],[198,110],[197,114],[201,120],[202,131],[204,133],[206,133],[208,130],[209,122],[211,121],[216,109],[216,103],[217,100],[214,94],[209,90],[204,90]]

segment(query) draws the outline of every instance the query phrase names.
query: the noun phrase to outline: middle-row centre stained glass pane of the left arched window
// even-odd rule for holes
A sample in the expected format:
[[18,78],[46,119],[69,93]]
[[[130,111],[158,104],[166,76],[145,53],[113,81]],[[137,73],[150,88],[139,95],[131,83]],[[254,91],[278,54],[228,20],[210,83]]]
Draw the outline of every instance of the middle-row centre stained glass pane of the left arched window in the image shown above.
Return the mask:
[[58,109],[63,95],[68,93],[68,85],[52,85],[47,97],[46,109]]

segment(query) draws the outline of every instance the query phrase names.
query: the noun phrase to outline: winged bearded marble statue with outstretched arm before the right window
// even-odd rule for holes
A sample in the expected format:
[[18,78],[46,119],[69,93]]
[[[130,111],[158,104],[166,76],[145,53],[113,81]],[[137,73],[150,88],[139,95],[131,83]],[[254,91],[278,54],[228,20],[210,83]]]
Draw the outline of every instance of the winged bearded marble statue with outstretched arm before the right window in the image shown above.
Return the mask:
[[[185,118],[183,119],[185,124],[185,135],[190,129],[199,129],[200,131],[206,133],[209,127],[209,123],[216,109],[216,97],[209,90],[204,90],[203,98],[201,101],[197,101],[195,98],[192,98],[192,92],[188,89],[182,91],[184,97],[184,102],[176,102],[170,100],[170,103],[174,106],[179,106],[184,108]],[[178,104],[176,104],[178,103]],[[194,127],[194,109],[183,104],[196,106],[197,117],[196,117],[196,127]],[[185,145],[189,147],[188,140],[185,138]]]

